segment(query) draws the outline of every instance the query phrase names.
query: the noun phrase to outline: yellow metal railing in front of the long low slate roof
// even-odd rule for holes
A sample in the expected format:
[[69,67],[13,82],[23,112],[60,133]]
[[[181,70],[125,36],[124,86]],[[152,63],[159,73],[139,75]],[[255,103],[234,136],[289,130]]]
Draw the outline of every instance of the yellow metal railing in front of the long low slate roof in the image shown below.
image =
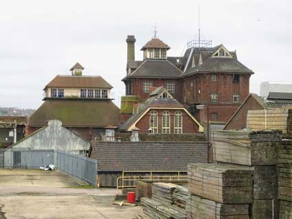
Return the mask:
[[[126,173],[139,173],[139,176],[125,176]],[[141,175],[142,173],[147,174],[146,176]],[[162,175],[156,175],[157,173],[163,173]],[[176,173],[176,174],[175,174]],[[166,175],[168,174],[168,175]],[[144,182],[164,182],[164,183],[171,183],[171,182],[179,182],[179,183],[186,183],[188,181],[186,171],[123,171],[122,176],[117,177],[117,193],[119,189],[129,188],[129,187],[136,187],[135,182],[137,181],[144,181]],[[132,185],[125,185],[126,182],[132,182],[129,184]]]

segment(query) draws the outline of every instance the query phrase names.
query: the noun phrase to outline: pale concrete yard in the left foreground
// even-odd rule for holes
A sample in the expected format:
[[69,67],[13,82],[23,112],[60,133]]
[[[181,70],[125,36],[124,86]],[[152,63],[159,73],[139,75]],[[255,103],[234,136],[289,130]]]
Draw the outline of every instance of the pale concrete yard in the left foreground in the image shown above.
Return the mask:
[[135,218],[141,207],[113,205],[115,189],[84,189],[59,171],[0,169],[0,219]]

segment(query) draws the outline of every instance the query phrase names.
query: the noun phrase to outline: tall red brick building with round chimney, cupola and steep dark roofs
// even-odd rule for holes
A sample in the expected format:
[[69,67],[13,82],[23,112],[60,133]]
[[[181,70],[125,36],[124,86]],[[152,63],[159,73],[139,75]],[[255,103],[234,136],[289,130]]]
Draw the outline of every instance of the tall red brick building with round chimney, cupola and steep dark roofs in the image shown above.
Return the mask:
[[206,119],[197,105],[208,105],[212,121],[227,122],[249,95],[249,78],[254,72],[240,63],[236,51],[223,45],[210,47],[188,43],[183,56],[168,57],[170,47],[159,38],[142,47],[144,60],[135,60],[135,37],[128,36],[126,95],[145,100],[150,87],[165,87],[199,121]]

